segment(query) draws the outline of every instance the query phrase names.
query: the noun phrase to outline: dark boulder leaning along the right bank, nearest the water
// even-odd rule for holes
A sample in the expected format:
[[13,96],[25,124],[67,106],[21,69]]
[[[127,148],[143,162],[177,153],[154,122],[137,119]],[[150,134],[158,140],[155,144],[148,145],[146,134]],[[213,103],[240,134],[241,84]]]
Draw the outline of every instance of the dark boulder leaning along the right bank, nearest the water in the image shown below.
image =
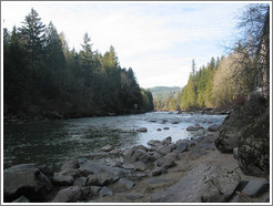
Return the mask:
[[215,141],[218,150],[233,153],[233,148],[239,147],[239,140],[247,126],[264,112],[266,104],[264,97],[253,95],[243,106],[234,107],[219,128],[220,135]]

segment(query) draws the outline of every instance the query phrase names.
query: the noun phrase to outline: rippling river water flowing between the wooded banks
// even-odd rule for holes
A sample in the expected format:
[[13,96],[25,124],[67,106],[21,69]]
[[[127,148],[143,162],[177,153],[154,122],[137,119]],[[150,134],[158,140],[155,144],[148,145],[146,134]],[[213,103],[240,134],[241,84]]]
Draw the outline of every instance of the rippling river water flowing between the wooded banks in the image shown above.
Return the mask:
[[[3,168],[23,163],[47,164],[59,168],[71,157],[105,161],[110,156],[101,153],[100,148],[107,144],[115,148],[139,144],[146,146],[150,140],[162,141],[168,136],[176,142],[200,135],[188,132],[188,126],[198,123],[208,128],[212,124],[221,124],[224,119],[225,115],[152,112],[3,124]],[[148,132],[135,132],[140,127],[146,127]],[[164,127],[169,130],[163,130]]]

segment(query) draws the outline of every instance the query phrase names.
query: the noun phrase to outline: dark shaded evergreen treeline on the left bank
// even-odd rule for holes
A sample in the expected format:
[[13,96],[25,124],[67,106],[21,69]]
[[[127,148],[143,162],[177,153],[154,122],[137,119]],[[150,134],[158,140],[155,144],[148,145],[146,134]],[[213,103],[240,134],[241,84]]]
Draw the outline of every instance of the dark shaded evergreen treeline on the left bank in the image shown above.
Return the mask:
[[133,70],[121,68],[114,48],[93,51],[88,33],[81,50],[71,50],[64,34],[52,22],[46,27],[34,9],[21,28],[3,29],[4,115],[136,113],[152,111],[152,100]]

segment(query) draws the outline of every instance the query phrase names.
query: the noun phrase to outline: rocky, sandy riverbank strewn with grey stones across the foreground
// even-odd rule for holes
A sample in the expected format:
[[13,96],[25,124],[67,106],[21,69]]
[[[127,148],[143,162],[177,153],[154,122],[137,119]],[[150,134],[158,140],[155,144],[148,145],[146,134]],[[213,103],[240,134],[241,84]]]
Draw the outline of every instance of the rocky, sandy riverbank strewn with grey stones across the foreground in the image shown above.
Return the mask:
[[72,158],[59,172],[34,164],[10,167],[3,172],[4,202],[269,202],[269,179],[244,175],[233,154],[216,150],[215,125],[191,130],[204,134],[175,143],[171,137],[149,141],[149,147],[124,151],[105,145],[103,152],[117,155],[108,165]]

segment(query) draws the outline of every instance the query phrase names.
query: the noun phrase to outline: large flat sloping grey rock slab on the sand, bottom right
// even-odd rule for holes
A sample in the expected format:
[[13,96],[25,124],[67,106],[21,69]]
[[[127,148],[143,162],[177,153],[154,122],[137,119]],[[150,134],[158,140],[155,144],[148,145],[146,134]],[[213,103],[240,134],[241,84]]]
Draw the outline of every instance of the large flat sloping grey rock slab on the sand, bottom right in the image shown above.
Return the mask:
[[222,203],[233,194],[239,183],[240,176],[234,171],[200,164],[179,183],[153,194],[151,202]]

